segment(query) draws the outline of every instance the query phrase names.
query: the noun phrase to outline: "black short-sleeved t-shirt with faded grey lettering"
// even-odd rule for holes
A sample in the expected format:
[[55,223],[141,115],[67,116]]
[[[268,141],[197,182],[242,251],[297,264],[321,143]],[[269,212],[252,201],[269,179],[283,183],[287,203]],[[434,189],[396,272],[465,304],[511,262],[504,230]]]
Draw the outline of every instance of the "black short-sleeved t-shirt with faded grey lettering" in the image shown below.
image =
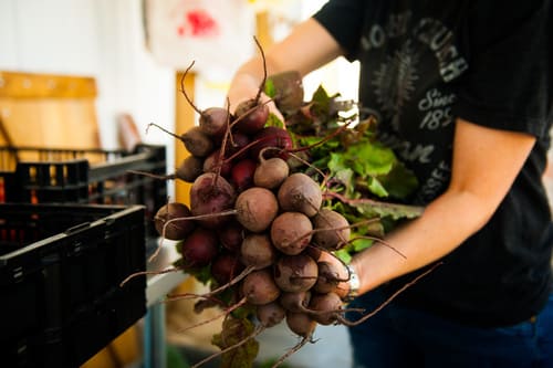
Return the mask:
[[541,181],[553,120],[552,13],[549,0],[331,0],[314,15],[361,62],[361,108],[418,177],[414,203],[446,190],[457,117],[538,139],[490,222],[398,303],[491,326],[543,307],[552,288]]

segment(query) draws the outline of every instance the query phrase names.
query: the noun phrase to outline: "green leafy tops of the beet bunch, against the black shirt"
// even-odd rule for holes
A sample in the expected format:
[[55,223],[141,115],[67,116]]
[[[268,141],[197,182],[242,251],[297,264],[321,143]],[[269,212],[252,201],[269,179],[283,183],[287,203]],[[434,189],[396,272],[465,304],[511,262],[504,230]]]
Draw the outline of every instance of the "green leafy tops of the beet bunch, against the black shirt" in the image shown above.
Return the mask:
[[[417,178],[395,153],[378,140],[374,117],[355,122],[355,104],[328,95],[320,86],[311,101],[285,116],[285,126],[299,147],[309,147],[309,168],[319,181],[325,180],[325,206],[349,223],[376,219],[379,235],[401,221],[420,215],[422,209],[404,204],[418,188]],[[344,126],[346,128],[344,129]],[[328,138],[331,137],[331,138]],[[324,178],[320,172],[324,172]],[[338,252],[347,262],[353,253],[372,245],[374,229],[352,231],[356,239]]]

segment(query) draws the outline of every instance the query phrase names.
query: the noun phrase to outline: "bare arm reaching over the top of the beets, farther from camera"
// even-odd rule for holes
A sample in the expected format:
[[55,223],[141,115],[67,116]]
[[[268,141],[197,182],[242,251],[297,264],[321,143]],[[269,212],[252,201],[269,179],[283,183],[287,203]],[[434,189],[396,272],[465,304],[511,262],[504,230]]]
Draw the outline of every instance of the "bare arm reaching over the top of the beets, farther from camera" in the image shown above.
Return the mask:
[[[268,50],[263,50],[268,74],[298,71],[302,76],[331,62],[342,54],[332,35],[315,20],[307,19],[293,32]],[[255,96],[263,81],[261,54],[242,64],[236,72],[227,96],[230,109]]]

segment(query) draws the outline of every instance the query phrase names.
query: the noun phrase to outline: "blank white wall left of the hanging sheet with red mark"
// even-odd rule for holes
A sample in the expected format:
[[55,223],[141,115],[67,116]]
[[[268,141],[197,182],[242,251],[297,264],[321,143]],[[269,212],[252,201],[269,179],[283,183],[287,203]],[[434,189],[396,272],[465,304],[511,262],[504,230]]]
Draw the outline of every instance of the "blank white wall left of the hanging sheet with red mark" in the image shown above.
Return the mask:
[[[145,48],[138,0],[1,0],[0,70],[96,78],[104,148],[117,145],[115,117],[131,113],[145,132],[174,124],[174,71]],[[147,143],[166,144],[152,129]]]

